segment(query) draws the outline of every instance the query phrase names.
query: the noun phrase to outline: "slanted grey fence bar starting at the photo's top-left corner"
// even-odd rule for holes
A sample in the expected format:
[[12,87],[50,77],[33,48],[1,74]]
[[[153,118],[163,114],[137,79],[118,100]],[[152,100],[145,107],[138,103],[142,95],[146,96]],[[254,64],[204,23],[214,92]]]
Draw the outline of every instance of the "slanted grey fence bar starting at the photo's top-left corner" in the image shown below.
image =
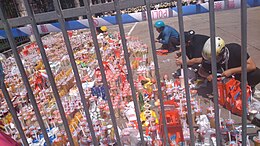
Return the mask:
[[3,25],[4,25],[4,29],[6,31],[6,35],[7,35],[7,38],[8,38],[8,41],[10,43],[10,46],[11,46],[11,49],[12,49],[12,52],[14,54],[14,58],[15,58],[15,61],[16,61],[16,64],[18,66],[18,69],[21,73],[21,76],[22,76],[22,80],[23,80],[23,83],[25,85],[25,88],[28,92],[28,96],[30,98],[30,101],[32,103],[32,106],[33,106],[33,110],[35,112],[35,115],[36,115],[36,118],[37,118],[37,121],[39,123],[39,126],[42,130],[42,133],[43,133],[43,136],[44,136],[44,139],[46,141],[46,144],[47,145],[50,145],[50,140],[49,140],[49,137],[48,137],[48,134],[46,132],[46,127],[44,125],[44,122],[42,120],[42,117],[41,117],[41,114],[40,114],[40,111],[39,111],[39,108],[37,106],[37,103],[36,103],[36,100],[35,100],[35,97],[33,95],[33,91],[31,89],[31,86],[30,86],[30,83],[28,81],[28,78],[27,78],[27,75],[25,73],[25,70],[24,70],[24,67],[23,67],[23,63],[22,63],[22,60],[17,52],[17,46],[16,46],[16,43],[15,43],[15,40],[14,40],[14,37],[13,37],[13,34],[12,34],[12,31],[11,31],[11,27],[10,27],[10,24],[7,22],[7,19],[5,18],[5,15],[3,13],[3,9],[2,9],[3,5],[0,3],[0,18],[3,22]]

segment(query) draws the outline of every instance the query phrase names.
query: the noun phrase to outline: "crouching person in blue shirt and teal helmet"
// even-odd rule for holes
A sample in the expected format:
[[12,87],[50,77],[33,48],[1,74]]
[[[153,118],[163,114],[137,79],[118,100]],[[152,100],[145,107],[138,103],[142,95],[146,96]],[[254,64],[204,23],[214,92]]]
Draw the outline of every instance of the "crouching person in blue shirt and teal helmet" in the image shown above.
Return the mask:
[[179,33],[171,26],[165,25],[163,21],[156,21],[154,24],[156,30],[160,33],[155,42],[161,43],[160,49],[174,52],[177,49],[179,42]]

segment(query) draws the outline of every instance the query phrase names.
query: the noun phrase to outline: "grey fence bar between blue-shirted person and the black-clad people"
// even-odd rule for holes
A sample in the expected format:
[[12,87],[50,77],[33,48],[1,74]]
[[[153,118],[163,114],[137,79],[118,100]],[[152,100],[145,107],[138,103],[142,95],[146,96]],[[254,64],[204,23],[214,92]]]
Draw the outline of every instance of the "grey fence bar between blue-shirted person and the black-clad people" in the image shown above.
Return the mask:
[[193,131],[193,123],[192,123],[192,114],[191,114],[191,101],[190,101],[190,87],[188,83],[188,65],[186,58],[186,45],[185,45],[185,37],[184,37],[184,24],[183,24],[183,16],[182,16],[182,1],[177,1],[177,9],[178,9],[178,20],[179,20],[179,29],[180,29],[180,41],[181,41],[181,56],[183,62],[183,73],[184,73],[184,84],[185,84],[185,95],[188,107],[188,124],[190,129],[190,140],[191,145],[195,145],[194,139],[194,131]]

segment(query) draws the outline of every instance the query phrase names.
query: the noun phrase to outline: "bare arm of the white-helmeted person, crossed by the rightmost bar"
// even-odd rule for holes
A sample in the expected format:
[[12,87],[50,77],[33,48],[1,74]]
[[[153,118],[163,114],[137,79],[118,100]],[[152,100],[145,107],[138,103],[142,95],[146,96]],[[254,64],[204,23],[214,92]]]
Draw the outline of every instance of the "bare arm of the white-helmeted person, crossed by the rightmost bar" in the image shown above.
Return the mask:
[[[251,57],[247,59],[247,72],[251,72],[256,69],[256,65]],[[230,68],[222,73],[222,76],[230,77],[233,74],[241,74],[242,67]]]

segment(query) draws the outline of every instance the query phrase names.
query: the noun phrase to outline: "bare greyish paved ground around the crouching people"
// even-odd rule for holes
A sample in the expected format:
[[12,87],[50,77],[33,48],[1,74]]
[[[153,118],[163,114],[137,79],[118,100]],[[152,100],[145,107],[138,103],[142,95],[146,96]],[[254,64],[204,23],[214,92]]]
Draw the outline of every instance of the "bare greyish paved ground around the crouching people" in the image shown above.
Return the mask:
[[[248,29],[248,52],[249,55],[253,58],[256,65],[260,67],[260,7],[256,8],[249,8],[248,9],[248,21],[247,21],[247,29]],[[226,43],[239,43],[241,42],[241,24],[240,24],[240,9],[236,10],[227,10],[227,11],[219,11],[215,13],[215,21],[216,21],[216,35],[222,37]],[[178,27],[178,18],[169,18],[164,19],[165,23],[175,27],[179,30]],[[134,26],[136,25],[136,26]],[[198,34],[210,34],[209,29],[209,14],[198,14],[198,15],[190,15],[184,17],[184,25],[185,30],[195,30]],[[147,22],[138,22],[137,24],[125,24],[125,33],[131,33],[131,36],[139,37],[144,43],[146,43],[149,48],[151,48],[150,42],[150,35],[149,35],[149,28]],[[111,29],[117,29],[117,26],[111,27]],[[132,29],[132,30],[131,30]],[[155,32],[155,36],[158,33]],[[157,44],[159,47],[160,45]],[[159,65],[160,65],[160,74],[163,76],[164,74],[168,74],[171,76],[171,73],[174,72],[177,68],[173,59],[173,53],[167,56],[158,56]],[[149,56],[152,58],[151,51],[149,51]],[[170,62],[163,63],[163,60],[170,59]],[[258,86],[260,89],[260,85]],[[209,104],[209,103],[206,103]],[[207,105],[206,105],[207,106]],[[228,116],[228,111],[222,109],[221,116],[226,117]],[[240,123],[241,118],[238,116],[233,115],[234,118],[238,123]],[[248,130],[248,132],[255,132],[254,130]]]

